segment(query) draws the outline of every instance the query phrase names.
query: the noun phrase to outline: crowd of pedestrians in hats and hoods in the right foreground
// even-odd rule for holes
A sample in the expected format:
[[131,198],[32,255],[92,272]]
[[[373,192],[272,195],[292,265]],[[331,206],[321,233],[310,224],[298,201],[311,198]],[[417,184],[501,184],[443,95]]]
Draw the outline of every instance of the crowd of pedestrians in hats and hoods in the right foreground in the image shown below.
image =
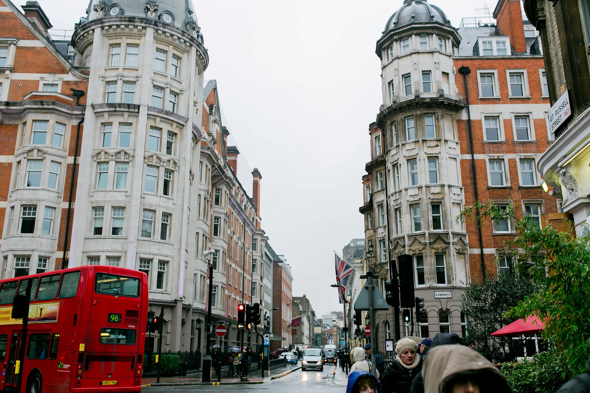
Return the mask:
[[[346,393],[512,392],[500,370],[466,346],[456,333],[437,333],[434,339],[422,339],[420,344],[402,338],[396,343],[395,354],[394,360],[381,370],[381,356],[375,356],[375,378],[371,344],[353,348]],[[586,373],[566,382],[557,393],[590,393],[590,359]]]

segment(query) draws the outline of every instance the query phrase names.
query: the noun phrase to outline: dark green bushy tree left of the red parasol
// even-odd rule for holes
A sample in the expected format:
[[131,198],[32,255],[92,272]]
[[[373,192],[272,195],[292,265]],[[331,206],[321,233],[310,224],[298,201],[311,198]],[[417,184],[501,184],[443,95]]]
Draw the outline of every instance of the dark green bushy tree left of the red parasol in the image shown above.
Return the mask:
[[535,291],[529,279],[516,274],[487,276],[483,282],[467,285],[461,302],[463,312],[470,318],[466,341],[473,343],[481,355],[495,363],[511,361],[519,342],[510,337],[493,337],[491,333],[516,321],[507,316],[510,308]]

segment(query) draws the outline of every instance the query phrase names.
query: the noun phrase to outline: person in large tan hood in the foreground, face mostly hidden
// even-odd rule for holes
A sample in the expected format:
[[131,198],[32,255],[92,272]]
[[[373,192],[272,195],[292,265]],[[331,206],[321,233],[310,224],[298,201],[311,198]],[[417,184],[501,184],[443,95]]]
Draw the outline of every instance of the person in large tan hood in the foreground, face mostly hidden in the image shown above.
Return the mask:
[[463,345],[431,348],[422,366],[425,393],[510,393],[506,377]]

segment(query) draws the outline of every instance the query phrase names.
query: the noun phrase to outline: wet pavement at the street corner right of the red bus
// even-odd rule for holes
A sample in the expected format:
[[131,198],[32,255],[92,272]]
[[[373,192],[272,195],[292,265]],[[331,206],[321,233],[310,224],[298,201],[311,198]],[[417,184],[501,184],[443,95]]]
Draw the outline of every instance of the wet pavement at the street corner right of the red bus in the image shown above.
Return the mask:
[[222,378],[221,381],[217,381],[215,378],[215,372],[211,375],[211,382],[202,382],[202,372],[194,372],[189,373],[186,377],[165,377],[160,378],[160,383],[156,383],[157,379],[155,377],[147,377],[142,378],[142,385],[143,386],[199,386],[199,385],[255,385],[255,384],[262,384],[263,382],[270,381],[271,379],[276,379],[283,377],[284,375],[290,374],[293,371],[300,369],[300,366],[283,366],[271,369],[270,375],[268,375],[268,371],[264,378],[262,378],[261,371],[256,369],[250,369],[248,373],[248,382],[240,381],[240,377],[237,378],[227,378],[227,371],[222,371]]

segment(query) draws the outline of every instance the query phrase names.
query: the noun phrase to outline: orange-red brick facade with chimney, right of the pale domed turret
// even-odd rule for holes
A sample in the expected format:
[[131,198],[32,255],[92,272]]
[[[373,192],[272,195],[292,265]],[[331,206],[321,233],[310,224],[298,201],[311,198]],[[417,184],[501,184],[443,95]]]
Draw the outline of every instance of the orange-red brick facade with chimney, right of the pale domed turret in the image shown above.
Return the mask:
[[[549,91],[540,40],[523,21],[520,1],[500,0],[493,17],[495,26],[462,25],[454,60],[457,90],[469,98],[457,120],[465,204],[512,200],[517,216],[530,214],[541,223],[543,214],[558,212],[560,200],[543,192],[536,166],[553,138],[546,123]],[[466,68],[468,91],[461,74]],[[471,280],[481,280],[484,270],[511,269],[503,242],[514,238],[514,223],[486,223],[481,237],[476,224],[467,222],[466,230]]]

